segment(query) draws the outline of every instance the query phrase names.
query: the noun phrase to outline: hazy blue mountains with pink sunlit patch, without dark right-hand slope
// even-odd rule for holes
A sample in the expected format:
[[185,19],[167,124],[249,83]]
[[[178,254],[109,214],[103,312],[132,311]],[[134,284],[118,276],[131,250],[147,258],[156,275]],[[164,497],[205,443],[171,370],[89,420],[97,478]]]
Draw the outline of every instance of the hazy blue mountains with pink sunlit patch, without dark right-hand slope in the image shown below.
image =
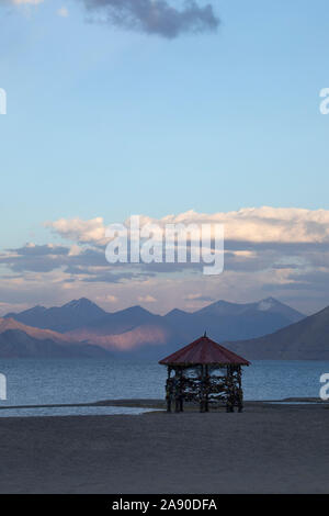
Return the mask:
[[175,309],[163,316],[140,306],[107,313],[82,298],[63,306],[35,306],[0,318],[0,357],[10,356],[12,343],[15,357],[21,346],[24,357],[75,354],[157,359],[204,330],[217,341],[241,347],[241,341],[303,319],[303,314],[273,298],[247,304],[218,301],[194,313]]

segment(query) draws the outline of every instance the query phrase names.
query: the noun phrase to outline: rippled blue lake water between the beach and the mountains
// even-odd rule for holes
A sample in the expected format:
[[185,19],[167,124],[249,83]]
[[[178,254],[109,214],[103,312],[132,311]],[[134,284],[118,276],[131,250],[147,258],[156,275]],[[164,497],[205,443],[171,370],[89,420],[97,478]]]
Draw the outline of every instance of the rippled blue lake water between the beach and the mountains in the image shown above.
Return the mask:
[[[109,399],[163,397],[166,368],[124,360],[1,360],[7,375],[7,405],[86,403]],[[254,361],[245,368],[246,400],[319,395],[319,378],[329,361]],[[138,408],[69,407],[0,411],[0,416],[140,414]]]

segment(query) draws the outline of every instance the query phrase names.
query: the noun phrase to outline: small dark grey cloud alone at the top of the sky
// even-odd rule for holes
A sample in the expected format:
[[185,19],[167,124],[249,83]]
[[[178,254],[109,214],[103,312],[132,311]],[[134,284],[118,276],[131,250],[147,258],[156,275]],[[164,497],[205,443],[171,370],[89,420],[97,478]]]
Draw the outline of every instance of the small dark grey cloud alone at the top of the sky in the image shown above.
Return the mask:
[[[212,4],[195,0],[82,0],[91,21],[174,38],[184,33],[215,32],[219,19]],[[181,4],[181,5],[179,5]]]

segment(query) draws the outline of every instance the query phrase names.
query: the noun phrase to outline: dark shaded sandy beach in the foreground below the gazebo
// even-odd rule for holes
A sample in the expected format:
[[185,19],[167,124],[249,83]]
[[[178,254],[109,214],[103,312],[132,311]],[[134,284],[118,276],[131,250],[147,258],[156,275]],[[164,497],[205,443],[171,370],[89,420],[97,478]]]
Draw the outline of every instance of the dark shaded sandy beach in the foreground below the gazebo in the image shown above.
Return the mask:
[[329,493],[328,425],[321,404],[1,418],[0,492]]

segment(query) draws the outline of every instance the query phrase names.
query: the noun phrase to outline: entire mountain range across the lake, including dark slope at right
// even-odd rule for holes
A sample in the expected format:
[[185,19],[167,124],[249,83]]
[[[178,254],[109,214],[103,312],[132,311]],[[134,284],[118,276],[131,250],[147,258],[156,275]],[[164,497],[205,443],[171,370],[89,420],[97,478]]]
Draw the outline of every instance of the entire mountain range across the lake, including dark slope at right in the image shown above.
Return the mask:
[[107,313],[87,299],[35,306],[0,317],[0,358],[157,360],[204,330],[249,360],[329,360],[329,306],[305,317],[273,298],[217,301],[194,313],[174,309],[163,316],[141,306]]

